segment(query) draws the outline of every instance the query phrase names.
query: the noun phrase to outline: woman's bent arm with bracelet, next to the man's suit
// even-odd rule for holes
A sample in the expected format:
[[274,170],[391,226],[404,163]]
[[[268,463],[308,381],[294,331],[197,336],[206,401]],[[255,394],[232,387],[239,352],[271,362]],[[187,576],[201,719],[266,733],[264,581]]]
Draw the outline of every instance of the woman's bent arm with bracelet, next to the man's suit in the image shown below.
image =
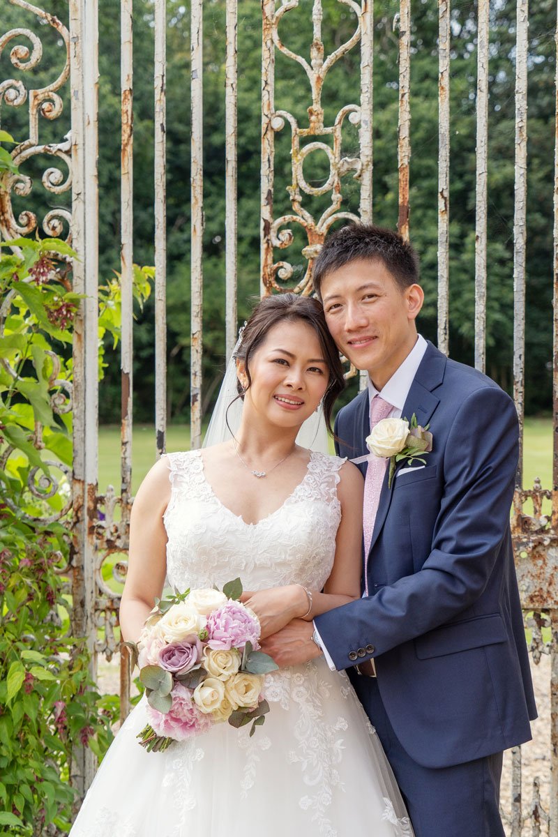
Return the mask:
[[337,496],[341,521],[335,539],[335,561],[323,593],[310,590],[312,607],[305,588],[299,584],[244,593],[243,602],[258,615],[262,638],[274,634],[291,619],[310,622],[315,616],[354,601],[361,595],[362,494],[361,472],[351,462],[340,469]]

